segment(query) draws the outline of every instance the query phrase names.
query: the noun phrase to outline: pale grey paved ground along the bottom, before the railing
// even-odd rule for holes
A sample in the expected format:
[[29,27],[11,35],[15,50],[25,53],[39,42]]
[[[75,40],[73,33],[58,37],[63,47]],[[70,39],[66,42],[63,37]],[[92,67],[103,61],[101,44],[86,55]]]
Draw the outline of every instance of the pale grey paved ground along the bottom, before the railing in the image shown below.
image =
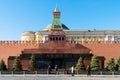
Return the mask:
[[120,75],[1,75],[0,80],[120,80]]

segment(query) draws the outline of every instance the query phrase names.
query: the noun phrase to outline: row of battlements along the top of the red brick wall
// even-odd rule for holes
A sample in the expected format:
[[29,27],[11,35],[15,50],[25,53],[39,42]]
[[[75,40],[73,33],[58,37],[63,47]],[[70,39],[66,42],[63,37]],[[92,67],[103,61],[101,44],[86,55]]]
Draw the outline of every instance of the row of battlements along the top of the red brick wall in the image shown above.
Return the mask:
[[[38,45],[40,43],[44,43],[44,42],[40,42],[40,41],[0,41],[0,45],[28,45],[28,44],[32,44],[32,45]],[[69,42],[69,43],[79,43],[79,44],[120,44],[120,41],[79,41],[79,42]]]

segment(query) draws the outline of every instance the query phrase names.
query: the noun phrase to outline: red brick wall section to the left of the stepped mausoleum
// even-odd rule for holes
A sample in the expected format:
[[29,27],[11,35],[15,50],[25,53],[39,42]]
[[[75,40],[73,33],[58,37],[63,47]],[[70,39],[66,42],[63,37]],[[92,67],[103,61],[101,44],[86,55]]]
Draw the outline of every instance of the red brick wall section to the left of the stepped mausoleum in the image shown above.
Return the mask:
[[20,55],[23,49],[38,48],[39,44],[36,43],[21,43],[21,44],[1,44],[0,43],[0,59],[3,59],[6,64],[9,56]]

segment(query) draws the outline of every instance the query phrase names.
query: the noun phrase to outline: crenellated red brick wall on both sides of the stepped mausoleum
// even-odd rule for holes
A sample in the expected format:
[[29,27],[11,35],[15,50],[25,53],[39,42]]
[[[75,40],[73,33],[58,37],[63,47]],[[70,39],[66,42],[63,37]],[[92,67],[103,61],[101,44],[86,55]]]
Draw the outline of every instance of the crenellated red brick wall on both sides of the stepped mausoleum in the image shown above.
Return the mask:
[[[91,53],[97,56],[105,57],[105,66],[108,60],[113,57],[117,59],[120,56],[120,42],[78,42],[79,44],[91,49]],[[9,56],[20,55],[24,49],[39,48],[43,43],[25,42],[25,41],[0,41],[0,59],[3,59],[6,64]],[[72,43],[76,44],[76,43]]]

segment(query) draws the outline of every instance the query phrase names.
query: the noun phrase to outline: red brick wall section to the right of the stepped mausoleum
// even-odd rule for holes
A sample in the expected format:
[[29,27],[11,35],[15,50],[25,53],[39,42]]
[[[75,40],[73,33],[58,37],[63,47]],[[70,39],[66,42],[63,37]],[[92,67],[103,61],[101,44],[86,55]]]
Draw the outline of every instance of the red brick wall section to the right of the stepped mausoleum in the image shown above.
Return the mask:
[[107,62],[110,58],[117,58],[120,56],[120,43],[115,42],[91,42],[91,43],[80,43],[89,49],[92,50],[92,53],[96,56],[104,56],[105,57],[105,66],[107,66]]

